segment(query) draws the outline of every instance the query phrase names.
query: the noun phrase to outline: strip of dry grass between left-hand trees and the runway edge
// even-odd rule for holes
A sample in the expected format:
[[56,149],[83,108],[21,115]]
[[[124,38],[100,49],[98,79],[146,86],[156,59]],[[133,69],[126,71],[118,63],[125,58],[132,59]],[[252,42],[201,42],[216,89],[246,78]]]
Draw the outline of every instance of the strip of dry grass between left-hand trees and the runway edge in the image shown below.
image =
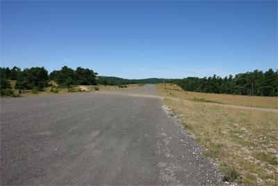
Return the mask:
[[[15,80],[8,80],[8,82],[10,82],[10,84],[13,86],[15,86]],[[51,81],[49,83],[52,83],[55,86],[58,86],[58,84],[56,84],[56,82]],[[88,90],[90,90],[90,86],[92,85],[80,85],[80,86],[84,86],[86,88],[88,88]],[[142,84],[129,84],[126,85],[127,88],[138,88],[140,86],[142,86]],[[127,89],[127,88],[118,88],[118,86],[104,86],[104,85],[97,85],[95,86],[97,88],[99,88],[99,91],[113,91],[113,90],[119,90],[119,89]],[[56,89],[56,88],[53,88]],[[31,90],[23,90],[22,93],[19,94],[18,90],[15,90],[15,88],[13,88],[13,91],[15,91],[15,94],[17,95],[21,95],[22,97],[31,97],[31,96],[42,96],[42,95],[60,95],[60,94],[71,94],[71,93],[88,93],[88,92],[93,92],[93,91],[77,91],[81,89],[79,87],[79,85],[74,85],[72,86],[72,88],[70,88],[70,90],[74,91],[74,92],[68,92],[67,88],[58,88],[58,93],[51,93],[51,87],[46,87],[44,88],[44,91],[40,91],[38,94],[33,94]],[[10,96],[1,96],[1,98],[10,98]]]

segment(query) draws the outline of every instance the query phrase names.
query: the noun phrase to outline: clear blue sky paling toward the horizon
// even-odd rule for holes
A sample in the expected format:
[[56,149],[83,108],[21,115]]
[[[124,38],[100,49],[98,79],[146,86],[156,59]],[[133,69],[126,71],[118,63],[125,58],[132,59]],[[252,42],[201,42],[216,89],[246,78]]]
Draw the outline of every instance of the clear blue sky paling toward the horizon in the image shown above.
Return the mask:
[[277,1],[1,1],[1,67],[127,79],[277,67]]

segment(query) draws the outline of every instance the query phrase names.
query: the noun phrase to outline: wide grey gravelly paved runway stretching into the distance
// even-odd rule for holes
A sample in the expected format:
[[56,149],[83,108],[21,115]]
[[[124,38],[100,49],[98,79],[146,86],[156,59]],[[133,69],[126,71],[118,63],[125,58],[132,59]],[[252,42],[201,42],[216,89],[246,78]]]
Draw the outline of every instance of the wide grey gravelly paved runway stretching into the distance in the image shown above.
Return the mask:
[[1,99],[1,185],[223,185],[155,85]]

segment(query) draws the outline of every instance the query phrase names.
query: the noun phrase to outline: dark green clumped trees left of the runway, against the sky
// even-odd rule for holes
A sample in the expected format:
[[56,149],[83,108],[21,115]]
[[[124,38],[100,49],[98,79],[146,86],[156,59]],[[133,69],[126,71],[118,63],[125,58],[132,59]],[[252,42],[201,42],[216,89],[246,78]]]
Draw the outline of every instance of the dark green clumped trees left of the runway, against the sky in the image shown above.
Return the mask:
[[[15,66],[10,68],[0,68],[1,76],[1,95],[13,94],[12,88],[15,88],[22,93],[23,90],[43,91],[44,87],[52,86],[49,84],[51,80],[54,80],[59,86],[67,86],[74,84],[80,85],[96,85],[97,73],[88,68],[81,67],[73,70],[64,66],[61,70],[54,70],[50,74],[42,67],[21,68]],[[10,85],[10,80],[16,80],[15,86]]]

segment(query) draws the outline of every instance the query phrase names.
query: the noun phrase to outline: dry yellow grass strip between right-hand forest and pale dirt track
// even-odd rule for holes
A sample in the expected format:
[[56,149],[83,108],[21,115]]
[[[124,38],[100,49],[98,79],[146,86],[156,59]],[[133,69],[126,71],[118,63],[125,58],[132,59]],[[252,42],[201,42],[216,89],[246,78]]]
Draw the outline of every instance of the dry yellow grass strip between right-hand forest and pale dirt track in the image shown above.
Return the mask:
[[222,104],[234,104],[247,107],[261,107],[269,109],[278,109],[277,97],[261,97],[248,95],[224,95],[216,93],[196,93],[183,91],[176,84],[157,84],[156,90],[160,95],[181,98],[185,100],[204,99],[211,102],[220,102]]

